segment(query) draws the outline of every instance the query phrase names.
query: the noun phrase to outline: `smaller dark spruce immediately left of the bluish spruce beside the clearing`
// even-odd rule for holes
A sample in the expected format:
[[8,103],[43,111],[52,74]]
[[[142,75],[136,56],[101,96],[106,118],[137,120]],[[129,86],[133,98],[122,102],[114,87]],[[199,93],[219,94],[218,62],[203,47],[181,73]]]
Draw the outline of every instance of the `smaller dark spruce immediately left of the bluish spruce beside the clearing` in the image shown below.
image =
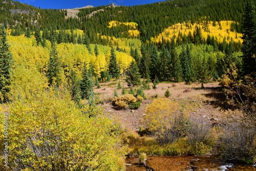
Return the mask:
[[72,100],[79,104],[81,100],[80,80],[77,78],[74,70],[71,70],[71,74],[68,76],[68,88],[70,90]]

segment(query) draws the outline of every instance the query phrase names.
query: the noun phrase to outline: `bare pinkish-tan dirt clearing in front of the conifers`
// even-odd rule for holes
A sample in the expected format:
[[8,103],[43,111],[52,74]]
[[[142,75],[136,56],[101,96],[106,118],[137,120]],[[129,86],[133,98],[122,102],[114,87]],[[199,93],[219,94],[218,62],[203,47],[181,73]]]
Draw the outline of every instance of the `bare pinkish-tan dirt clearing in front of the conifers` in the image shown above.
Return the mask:
[[[216,124],[221,120],[221,107],[219,106],[220,87],[218,82],[211,82],[204,84],[204,88],[201,88],[201,83],[192,83],[190,85],[181,83],[159,83],[158,89],[145,90],[144,93],[147,99],[143,100],[141,106],[137,110],[115,110],[111,104],[113,98],[114,89],[117,87],[118,81],[101,83],[100,89],[95,89],[94,92],[99,93],[103,104],[104,114],[116,121],[120,122],[123,128],[139,131],[140,123],[145,115],[145,108],[150,105],[154,100],[156,94],[158,98],[164,97],[164,93],[169,89],[170,96],[168,98],[177,100],[184,105],[191,119],[197,119],[201,122],[208,124]],[[121,84],[129,91],[124,80],[121,80]],[[121,90],[117,90],[118,95],[121,95]]]

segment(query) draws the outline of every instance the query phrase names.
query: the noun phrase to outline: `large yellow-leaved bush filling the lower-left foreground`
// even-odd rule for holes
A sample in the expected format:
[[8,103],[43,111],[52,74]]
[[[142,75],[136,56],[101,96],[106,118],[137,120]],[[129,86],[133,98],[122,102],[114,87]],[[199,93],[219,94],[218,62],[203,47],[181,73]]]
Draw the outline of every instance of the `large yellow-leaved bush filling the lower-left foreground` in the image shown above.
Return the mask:
[[55,90],[11,104],[9,166],[34,170],[118,170],[123,152],[118,125],[84,115]]

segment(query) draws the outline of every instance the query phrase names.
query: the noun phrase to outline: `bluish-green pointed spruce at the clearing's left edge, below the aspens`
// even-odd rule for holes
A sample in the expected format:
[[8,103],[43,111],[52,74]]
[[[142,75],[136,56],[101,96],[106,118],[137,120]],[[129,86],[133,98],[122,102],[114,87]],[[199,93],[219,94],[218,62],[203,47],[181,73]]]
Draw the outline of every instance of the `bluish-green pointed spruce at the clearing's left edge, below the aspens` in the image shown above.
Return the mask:
[[90,93],[93,92],[93,81],[92,81],[92,76],[89,74],[89,71],[87,69],[86,62],[84,62],[80,89],[81,89],[81,98],[89,99]]

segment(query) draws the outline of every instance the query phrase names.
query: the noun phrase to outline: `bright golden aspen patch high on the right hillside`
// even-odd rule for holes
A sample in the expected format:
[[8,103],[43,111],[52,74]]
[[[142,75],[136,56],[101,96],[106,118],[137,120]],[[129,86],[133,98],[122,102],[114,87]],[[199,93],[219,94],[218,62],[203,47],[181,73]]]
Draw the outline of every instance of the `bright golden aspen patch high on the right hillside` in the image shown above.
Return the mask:
[[209,22],[208,24],[204,24],[204,22],[200,24],[194,23],[193,25],[191,23],[185,22],[175,24],[164,29],[162,33],[160,33],[156,37],[152,37],[151,40],[153,42],[161,42],[162,37],[164,38],[164,40],[170,40],[174,36],[177,38],[179,34],[188,35],[189,32],[193,35],[195,28],[199,27],[201,28],[202,37],[205,40],[209,35],[210,37],[214,36],[215,38],[217,38],[218,43],[223,42],[224,38],[227,42],[229,42],[230,40],[233,40],[234,42],[243,42],[243,40],[241,39],[242,33],[237,33],[230,30],[230,26],[233,21],[223,20],[221,22],[216,22],[215,26],[213,22]]

